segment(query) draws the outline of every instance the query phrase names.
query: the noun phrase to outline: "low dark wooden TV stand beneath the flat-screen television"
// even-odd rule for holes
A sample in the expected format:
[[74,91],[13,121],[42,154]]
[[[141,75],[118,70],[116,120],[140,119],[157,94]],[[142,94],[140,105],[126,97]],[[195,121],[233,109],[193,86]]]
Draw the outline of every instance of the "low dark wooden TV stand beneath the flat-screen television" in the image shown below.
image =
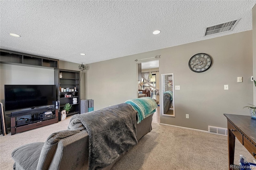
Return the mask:
[[[17,123],[16,123],[17,117],[24,116],[24,115],[32,115],[32,117],[34,117],[34,115],[36,115],[39,117],[39,114],[43,113],[45,111],[52,111],[52,114],[53,114],[52,118],[44,119],[44,120],[33,118],[30,121],[27,121],[26,123],[24,123],[22,125],[17,125]],[[14,112],[14,113],[16,113],[16,114],[9,115],[10,124],[11,124],[11,134],[24,132],[27,130],[31,130],[31,129],[38,128],[38,127],[43,127],[43,126],[58,122],[58,109],[55,109],[55,108],[49,110],[47,107],[45,107],[45,108],[40,108],[40,109],[30,109],[30,110],[20,111],[18,113]]]

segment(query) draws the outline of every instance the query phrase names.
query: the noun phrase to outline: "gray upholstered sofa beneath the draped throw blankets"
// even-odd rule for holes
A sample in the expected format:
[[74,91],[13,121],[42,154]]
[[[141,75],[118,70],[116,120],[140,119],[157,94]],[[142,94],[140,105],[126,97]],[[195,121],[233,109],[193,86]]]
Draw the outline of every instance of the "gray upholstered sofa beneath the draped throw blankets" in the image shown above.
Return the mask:
[[[121,104],[120,104],[121,105]],[[115,107],[115,106],[114,106]],[[116,105],[118,108],[119,105]],[[105,108],[106,109],[106,108]],[[104,112],[104,109],[100,110]],[[98,111],[98,112],[100,112]],[[96,113],[97,111],[94,111]],[[136,118],[137,111],[135,111]],[[83,115],[83,114],[81,114]],[[140,140],[152,130],[152,115],[136,124],[136,139]],[[73,118],[73,117],[72,117]],[[71,122],[71,121],[70,121]],[[89,137],[85,130],[62,130],[51,134],[46,142],[35,142],[16,148],[12,152],[14,170],[88,170]],[[127,150],[126,150],[127,151]],[[109,170],[125,153],[121,153],[103,170]],[[98,169],[98,168],[95,168]]]

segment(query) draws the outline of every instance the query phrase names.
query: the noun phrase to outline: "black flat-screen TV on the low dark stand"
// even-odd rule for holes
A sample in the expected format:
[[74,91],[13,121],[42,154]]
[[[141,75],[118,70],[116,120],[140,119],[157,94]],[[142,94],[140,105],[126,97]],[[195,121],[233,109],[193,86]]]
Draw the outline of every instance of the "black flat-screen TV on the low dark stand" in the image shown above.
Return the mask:
[[55,85],[4,85],[5,111],[52,105]]

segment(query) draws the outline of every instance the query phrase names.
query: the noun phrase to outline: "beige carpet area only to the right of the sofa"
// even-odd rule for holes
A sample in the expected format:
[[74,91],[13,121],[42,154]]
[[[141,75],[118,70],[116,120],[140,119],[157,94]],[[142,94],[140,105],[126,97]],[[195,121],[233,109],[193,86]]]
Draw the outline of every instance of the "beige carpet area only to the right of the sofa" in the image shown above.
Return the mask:
[[[152,123],[153,130],[131,148],[112,170],[227,170],[227,136]],[[252,155],[236,140],[239,155]]]

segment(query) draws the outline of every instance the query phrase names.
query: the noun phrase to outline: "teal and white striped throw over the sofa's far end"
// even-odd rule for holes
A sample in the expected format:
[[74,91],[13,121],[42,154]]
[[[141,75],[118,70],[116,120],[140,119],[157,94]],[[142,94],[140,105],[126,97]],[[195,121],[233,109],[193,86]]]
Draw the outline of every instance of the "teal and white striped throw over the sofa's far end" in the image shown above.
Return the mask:
[[143,119],[156,112],[156,108],[158,107],[154,99],[152,99],[151,97],[130,99],[124,103],[132,105],[132,107],[138,112],[137,123],[140,123]]

